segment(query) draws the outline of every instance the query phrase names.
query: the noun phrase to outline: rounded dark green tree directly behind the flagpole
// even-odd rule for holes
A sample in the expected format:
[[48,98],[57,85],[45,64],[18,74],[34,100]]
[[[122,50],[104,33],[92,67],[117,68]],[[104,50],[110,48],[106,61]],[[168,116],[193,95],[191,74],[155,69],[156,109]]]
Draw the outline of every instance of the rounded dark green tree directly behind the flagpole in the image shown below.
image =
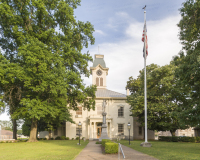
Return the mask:
[[[179,89],[174,70],[173,64],[162,67],[155,64],[147,66],[148,129],[169,130],[172,136],[175,136],[177,129],[187,128],[178,119],[180,111],[176,97]],[[132,116],[138,117],[138,122],[144,126],[144,70],[140,71],[137,79],[130,77],[126,88],[131,92],[127,102],[131,105]]]

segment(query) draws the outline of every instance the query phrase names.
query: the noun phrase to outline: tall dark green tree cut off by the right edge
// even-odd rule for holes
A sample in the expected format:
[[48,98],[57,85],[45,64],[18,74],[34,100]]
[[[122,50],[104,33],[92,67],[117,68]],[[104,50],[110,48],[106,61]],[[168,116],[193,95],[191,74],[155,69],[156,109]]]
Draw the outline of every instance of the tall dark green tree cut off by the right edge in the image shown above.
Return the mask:
[[180,119],[192,127],[200,124],[200,1],[187,0],[180,9],[179,38],[183,50],[174,58],[175,75],[182,89]]

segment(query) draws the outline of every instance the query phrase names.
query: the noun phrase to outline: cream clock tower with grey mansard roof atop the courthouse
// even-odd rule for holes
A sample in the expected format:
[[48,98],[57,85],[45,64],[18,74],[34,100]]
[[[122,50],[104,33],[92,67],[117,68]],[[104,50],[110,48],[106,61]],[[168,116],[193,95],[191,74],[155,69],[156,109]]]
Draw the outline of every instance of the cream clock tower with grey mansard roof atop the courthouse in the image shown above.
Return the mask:
[[95,54],[93,66],[90,67],[92,74],[92,84],[97,88],[106,88],[106,76],[108,75],[109,68],[106,68],[104,55]]

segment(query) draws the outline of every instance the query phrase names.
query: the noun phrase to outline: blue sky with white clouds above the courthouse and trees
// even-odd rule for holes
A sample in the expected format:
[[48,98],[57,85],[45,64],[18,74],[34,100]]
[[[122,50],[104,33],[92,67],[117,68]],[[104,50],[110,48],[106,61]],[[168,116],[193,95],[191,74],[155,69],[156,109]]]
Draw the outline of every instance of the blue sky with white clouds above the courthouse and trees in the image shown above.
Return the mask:
[[[129,77],[137,78],[144,68],[142,32],[144,10],[148,37],[147,65],[169,64],[172,57],[182,49],[178,37],[181,16],[179,9],[185,0],[82,0],[75,9],[77,20],[91,22],[94,26],[95,44],[83,49],[103,54],[107,75],[107,89],[126,94]],[[99,47],[99,50],[98,50]],[[89,62],[89,67],[92,62]],[[88,67],[88,69],[89,69]],[[86,86],[91,85],[92,76],[82,77]],[[6,114],[0,120],[9,120]]]

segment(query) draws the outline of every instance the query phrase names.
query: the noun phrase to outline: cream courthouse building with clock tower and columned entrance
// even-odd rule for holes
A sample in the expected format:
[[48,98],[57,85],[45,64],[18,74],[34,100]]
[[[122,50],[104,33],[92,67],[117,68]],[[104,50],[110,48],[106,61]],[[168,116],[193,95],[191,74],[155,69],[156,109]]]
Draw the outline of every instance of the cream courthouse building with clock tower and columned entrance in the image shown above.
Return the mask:
[[[95,110],[88,111],[80,105],[78,111],[71,111],[75,124],[66,122],[65,126],[52,132],[52,136],[66,136],[70,139],[79,135],[78,123],[81,122],[81,137],[90,140],[99,139],[101,136],[101,126],[103,122],[102,103],[106,100],[106,124],[107,133],[110,139],[128,139],[129,131],[127,124],[130,122],[131,139],[143,139],[144,129],[130,116],[130,105],[126,103],[127,95],[107,89],[106,78],[109,68],[106,67],[104,55],[95,55],[93,66],[90,67],[92,74],[92,84],[97,86]],[[45,136],[46,135],[46,136]],[[48,138],[45,132],[40,133],[40,138]],[[148,131],[148,139],[154,139],[154,131]]]

